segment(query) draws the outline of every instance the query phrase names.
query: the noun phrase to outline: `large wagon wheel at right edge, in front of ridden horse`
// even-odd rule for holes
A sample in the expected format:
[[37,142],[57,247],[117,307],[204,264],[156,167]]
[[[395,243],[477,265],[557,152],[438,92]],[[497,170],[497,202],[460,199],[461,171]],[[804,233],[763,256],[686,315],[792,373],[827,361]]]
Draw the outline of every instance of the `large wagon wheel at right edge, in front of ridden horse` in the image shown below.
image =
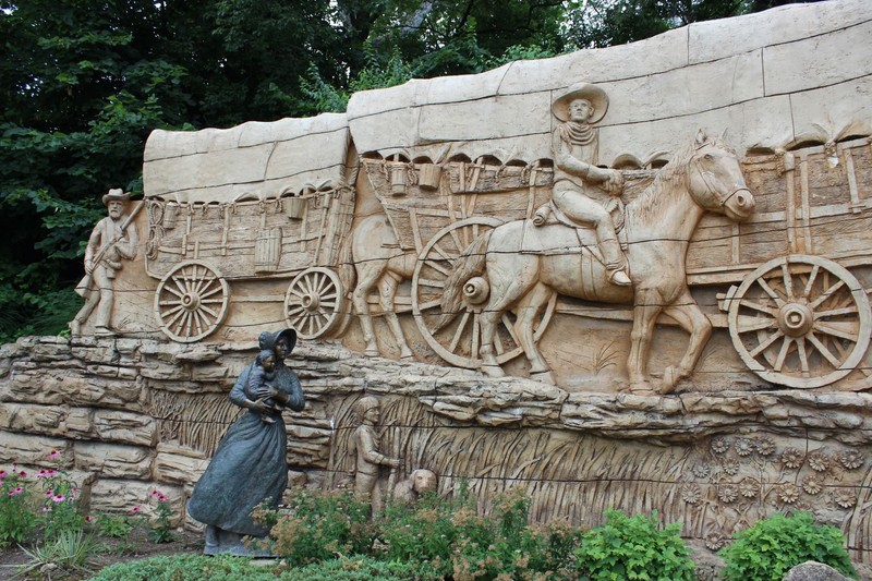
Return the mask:
[[744,279],[730,300],[729,332],[762,378],[813,388],[857,366],[869,347],[870,316],[853,275],[826,258],[795,254]]

